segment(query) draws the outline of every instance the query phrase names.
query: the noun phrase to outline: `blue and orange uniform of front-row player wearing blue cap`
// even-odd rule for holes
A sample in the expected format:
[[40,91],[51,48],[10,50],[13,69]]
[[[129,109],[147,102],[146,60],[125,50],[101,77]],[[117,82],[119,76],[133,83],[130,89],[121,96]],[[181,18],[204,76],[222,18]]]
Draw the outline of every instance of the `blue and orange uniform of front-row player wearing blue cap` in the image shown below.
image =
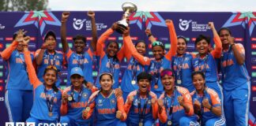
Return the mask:
[[91,119],[84,120],[82,118],[82,111],[88,106],[88,98],[92,95],[93,89],[88,89],[82,85],[81,91],[74,91],[73,86],[66,87],[63,94],[69,96],[69,102],[62,103],[61,113],[62,117],[60,123],[67,123],[70,126],[86,126],[89,125]]

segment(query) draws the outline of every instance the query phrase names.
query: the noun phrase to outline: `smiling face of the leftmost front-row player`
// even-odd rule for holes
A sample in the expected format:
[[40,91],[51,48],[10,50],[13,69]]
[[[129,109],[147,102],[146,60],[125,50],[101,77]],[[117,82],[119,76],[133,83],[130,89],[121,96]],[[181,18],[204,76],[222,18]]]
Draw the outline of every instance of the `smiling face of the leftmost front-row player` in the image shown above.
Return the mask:
[[55,69],[46,69],[46,72],[43,75],[44,83],[48,86],[52,86],[57,81],[57,72]]

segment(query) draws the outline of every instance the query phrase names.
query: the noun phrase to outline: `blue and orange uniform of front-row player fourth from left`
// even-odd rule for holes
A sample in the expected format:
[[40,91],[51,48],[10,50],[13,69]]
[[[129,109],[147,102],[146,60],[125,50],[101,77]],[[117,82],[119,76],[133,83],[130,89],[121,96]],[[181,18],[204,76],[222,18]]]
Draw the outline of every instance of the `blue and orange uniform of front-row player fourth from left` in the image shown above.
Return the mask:
[[[128,103],[130,97],[134,97],[132,104]],[[137,126],[142,123],[147,126],[154,124],[157,119],[158,106],[157,100],[155,100],[155,103],[151,102],[153,98],[157,99],[156,94],[152,91],[149,91],[145,98],[141,98],[137,90],[130,92],[125,103],[125,111],[129,122],[127,125]]]

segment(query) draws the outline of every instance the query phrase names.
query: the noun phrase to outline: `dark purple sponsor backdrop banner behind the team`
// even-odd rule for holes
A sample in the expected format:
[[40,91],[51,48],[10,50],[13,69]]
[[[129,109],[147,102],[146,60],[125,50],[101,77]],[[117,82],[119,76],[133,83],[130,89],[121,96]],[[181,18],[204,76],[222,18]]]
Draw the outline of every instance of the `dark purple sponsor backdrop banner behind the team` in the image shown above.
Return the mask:
[[[77,34],[88,37],[87,46],[89,45],[91,35],[91,24],[87,17],[87,12],[70,12],[70,17],[67,21],[67,40],[69,46],[73,48],[72,37]],[[100,36],[107,28],[121,19],[123,12],[96,12],[97,33]],[[62,12],[14,12],[0,13],[0,53],[10,43],[15,31],[24,29],[28,31],[27,35],[32,37],[29,43],[29,50],[36,51],[43,43],[43,36],[48,30],[55,31],[57,35],[57,50],[62,51],[60,42],[60,25]],[[185,36],[189,42],[187,51],[194,51],[194,40],[200,35],[213,36],[212,31],[208,27],[208,22],[213,21],[216,29],[228,27],[235,37],[235,43],[242,43],[246,49],[246,64],[248,72],[251,76],[251,95],[250,95],[250,113],[249,124],[255,123],[256,108],[253,107],[256,102],[256,13],[166,13],[166,12],[137,12],[130,16],[130,35],[135,42],[139,39],[144,39],[149,43],[148,37],[145,35],[145,29],[150,28],[156,39],[165,43],[165,48],[168,50],[170,41],[168,29],[164,20],[171,19],[175,24],[177,35]],[[108,41],[115,40],[122,46],[122,35],[114,33]],[[213,45],[213,42],[212,46]],[[151,46],[149,45],[147,55],[152,57]],[[126,60],[123,61],[122,72],[126,69]],[[97,76],[96,59],[93,65],[93,76]],[[0,57],[0,111],[2,117],[0,125],[4,125],[8,120],[8,114],[5,106],[5,86],[8,75],[6,61]],[[61,71],[62,85],[66,84],[66,69]],[[121,81],[122,73],[120,74]],[[15,96],[13,96],[15,97]],[[239,109],[239,108],[237,108]]]

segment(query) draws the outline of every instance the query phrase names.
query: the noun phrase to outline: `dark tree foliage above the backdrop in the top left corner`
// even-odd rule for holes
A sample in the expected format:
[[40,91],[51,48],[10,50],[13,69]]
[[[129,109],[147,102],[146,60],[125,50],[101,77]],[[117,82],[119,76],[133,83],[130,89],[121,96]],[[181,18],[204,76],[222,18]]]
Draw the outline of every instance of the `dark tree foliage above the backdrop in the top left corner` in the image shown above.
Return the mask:
[[1,11],[45,10],[48,0],[0,0]]

